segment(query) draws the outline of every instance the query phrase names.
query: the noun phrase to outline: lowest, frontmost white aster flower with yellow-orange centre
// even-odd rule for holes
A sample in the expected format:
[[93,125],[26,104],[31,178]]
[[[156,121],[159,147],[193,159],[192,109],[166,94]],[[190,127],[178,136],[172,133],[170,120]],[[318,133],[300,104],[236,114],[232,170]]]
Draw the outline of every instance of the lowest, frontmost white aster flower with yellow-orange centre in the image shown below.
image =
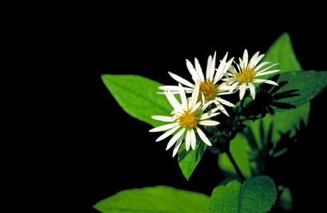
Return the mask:
[[203,111],[205,111],[205,109],[211,103],[207,102],[203,104],[202,100],[198,102],[200,82],[195,83],[191,99],[186,99],[186,94],[181,84],[178,84],[178,88],[179,94],[181,96],[181,104],[177,101],[176,97],[174,97],[174,95],[169,90],[165,90],[166,97],[174,109],[173,116],[151,116],[152,119],[156,119],[158,121],[171,122],[171,124],[159,126],[150,130],[150,132],[166,131],[166,133],[162,134],[159,138],[156,139],[156,141],[164,140],[164,138],[167,138],[178,130],[178,132],[168,142],[166,147],[166,150],[168,150],[169,148],[171,148],[171,146],[173,146],[173,144],[175,144],[175,148],[173,149],[173,156],[175,156],[178,152],[178,149],[180,148],[181,143],[183,141],[184,135],[186,135],[186,151],[190,149],[190,146],[193,150],[195,150],[195,132],[198,133],[201,140],[205,144],[211,146],[209,139],[207,138],[207,136],[205,136],[205,133],[203,133],[203,131],[200,129],[200,126],[215,126],[220,124],[218,121],[208,120],[210,117],[220,114],[216,112],[218,111],[218,108],[212,109],[207,113],[203,114]]

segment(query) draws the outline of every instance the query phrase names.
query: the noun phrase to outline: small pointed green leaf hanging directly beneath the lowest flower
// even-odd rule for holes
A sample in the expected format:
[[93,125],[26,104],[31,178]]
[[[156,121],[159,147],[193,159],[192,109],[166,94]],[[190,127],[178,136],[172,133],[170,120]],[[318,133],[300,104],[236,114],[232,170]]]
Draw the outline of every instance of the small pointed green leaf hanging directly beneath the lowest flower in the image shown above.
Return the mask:
[[188,180],[195,167],[198,165],[200,159],[202,158],[203,153],[207,145],[202,141],[198,140],[195,146],[195,150],[186,151],[185,143],[181,145],[178,151],[178,164],[182,170],[184,177]]

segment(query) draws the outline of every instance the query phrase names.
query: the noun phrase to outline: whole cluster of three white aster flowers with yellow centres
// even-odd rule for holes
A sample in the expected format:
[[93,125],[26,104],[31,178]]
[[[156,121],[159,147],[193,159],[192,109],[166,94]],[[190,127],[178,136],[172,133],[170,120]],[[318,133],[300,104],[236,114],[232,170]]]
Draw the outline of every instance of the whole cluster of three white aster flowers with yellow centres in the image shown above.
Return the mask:
[[[272,74],[274,72],[279,72],[280,70],[269,70],[271,67],[277,64],[272,64],[271,62],[262,62],[260,60],[264,57],[264,54],[259,55],[259,52],[255,53],[250,60],[247,54],[247,50],[243,53],[243,58],[239,59],[240,63],[236,63],[235,66],[232,65],[234,58],[227,60],[226,53],[223,60],[220,60],[220,65],[215,68],[216,53],[209,55],[207,69],[205,76],[203,75],[202,68],[198,59],[195,58],[195,66],[189,60],[186,60],[186,66],[188,71],[191,73],[192,80],[194,83],[185,80],[173,72],[168,72],[169,75],[178,82],[178,86],[162,86],[159,89],[164,90],[161,92],[166,95],[169,103],[173,107],[171,112],[172,116],[152,116],[152,119],[158,121],[165,121],[171,124],[166,124],[164,126],[159,126],[151,129],[151,132],[156,131],[166,131],[162,134],[156,141],[161,141],[164,138],[172,135],[177,131],[177,133],[168,142],[166,150],[171,148],[175,144],[173,149],[173,156],[176,155],[178,149],[180,148],[183,140],[186,141],[186,151],[190,147],[195,150],[196,136],[195,132],[198,133],[201,140],[211,146],[210,140],[205,133],[201,130],[201,126],[215,126],[218,125],[218,121],[210,120],[211,117],[217,116],[221,111],[223,114],[229,116],[223,105],[227,107],[235,107],[234,104],[227,102],[227,100],[221,98],[220,96],[226,94],[232,94],[237,91],[240,92],[240,99],[243,99],[247,89],[250,89],[250,94],[252,99],[255,98],[255,88],[252,83],[267,83],[278,85],[276,82],[271,80],[257,79],[257,77],[262,75]],[[269,65],[272,64],[272,65]],[[268,67],[262,67],[269,65]],[[182,86],[183,84],[183,86]],[[190,98],[186,97],[186,94],[192,93]],[[179,94],[181,97],[181,103],[178,102],[173,94]],[[210,111],[205,112],[205,109],[214,104]]]

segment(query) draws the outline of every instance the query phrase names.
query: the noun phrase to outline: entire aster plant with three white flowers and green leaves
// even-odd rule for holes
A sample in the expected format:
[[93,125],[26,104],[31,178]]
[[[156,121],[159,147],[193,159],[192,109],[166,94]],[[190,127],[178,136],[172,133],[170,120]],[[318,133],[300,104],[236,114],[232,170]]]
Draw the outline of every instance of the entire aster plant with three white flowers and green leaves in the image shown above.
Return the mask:
[[[96,209],[100,212],[291,209],[288,183],[269,177],[267,162],[287,155],[294,146],[299,129],[307,124],[310,100],[326,88],[327,72],[302,70],[287,33],[266,55],[256,52],[250,58],[244,50],[238,62],[234,57],[228,59],[228,53],[221,60],[216,58],[220,58],[220,53],[209,55],[205,73],[197,58],[194,65],[186,60],[186,70],[191,76],[168,72],[175,82],[165,84],[137,75],[102,75],[102,80],[128,114],[153,126],[149,132],[164,132],[158,134],[156,141],[167,140],[166,150],[174,146],[173,158],[177,157],[187,180],[196,172],[206,152],[218,155],[218,166],[227,179],[217,183],[210,197],[167,186],[144,187],[101,200],[95,204]],[[285,143],[285,138],[291,142]]]

